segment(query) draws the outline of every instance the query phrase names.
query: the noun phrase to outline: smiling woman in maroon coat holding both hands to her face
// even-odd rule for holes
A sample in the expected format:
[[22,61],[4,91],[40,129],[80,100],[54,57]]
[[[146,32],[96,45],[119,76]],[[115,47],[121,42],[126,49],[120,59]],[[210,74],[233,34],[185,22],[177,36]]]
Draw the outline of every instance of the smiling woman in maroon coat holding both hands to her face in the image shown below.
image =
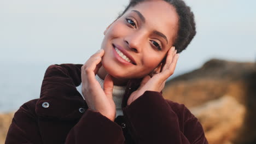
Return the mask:
[[46,70],[40,98],[15,113],[6,143],[208,143],[197,118],[161,95],[195,35],[189,7],[134,0],[104,35],[84,65]]

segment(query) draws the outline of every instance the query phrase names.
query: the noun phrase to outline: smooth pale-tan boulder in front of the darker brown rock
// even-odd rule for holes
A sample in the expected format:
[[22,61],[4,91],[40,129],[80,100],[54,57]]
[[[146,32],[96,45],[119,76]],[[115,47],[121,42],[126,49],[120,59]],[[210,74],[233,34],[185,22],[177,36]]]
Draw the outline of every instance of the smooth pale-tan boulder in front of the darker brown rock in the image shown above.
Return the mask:
[[226,95],[190,111],[203,125],[208,142],[219,144],[235,139],[238,129],[242,127],[246,109],[235,98]]

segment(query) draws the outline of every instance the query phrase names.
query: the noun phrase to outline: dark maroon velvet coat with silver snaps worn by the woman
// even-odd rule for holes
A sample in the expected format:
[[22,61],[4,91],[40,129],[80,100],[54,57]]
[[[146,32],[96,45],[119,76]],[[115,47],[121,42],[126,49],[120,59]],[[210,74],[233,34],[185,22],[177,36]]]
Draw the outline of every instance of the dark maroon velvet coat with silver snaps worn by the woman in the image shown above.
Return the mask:
[[183,104],[165,100],[159,92],[146,91],[127,106],[129,95],[139,86],[136,80],[127,84],[124,116],[115,122],[88,109],[76,89],[81,67],[51,65],[40,98],[15,113],[5,143],[208,143],[197,118]]

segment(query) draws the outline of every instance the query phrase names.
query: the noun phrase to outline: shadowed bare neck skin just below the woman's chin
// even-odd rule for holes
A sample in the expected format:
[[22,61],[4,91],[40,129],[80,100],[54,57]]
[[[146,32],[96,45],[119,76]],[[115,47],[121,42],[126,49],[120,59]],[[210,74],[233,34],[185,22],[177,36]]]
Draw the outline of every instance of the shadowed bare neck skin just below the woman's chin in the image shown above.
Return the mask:
[[[104,69],[103,66],[101,66],[101,68],[98,69],[97,75],[98,75],[102,80],[105,79],[105,77],[106,77],[107,74],[108,74],[108,73],[107,73],[106,69]],[[112,76],[112,80],[113,80],[113,83],[114,83],[115,86],[125,86],[125,85],[127,84],[127,82],[128,82],[128,79],[117,79],[117,78],[115,78],[115,77],[113,77],[113,76]]]

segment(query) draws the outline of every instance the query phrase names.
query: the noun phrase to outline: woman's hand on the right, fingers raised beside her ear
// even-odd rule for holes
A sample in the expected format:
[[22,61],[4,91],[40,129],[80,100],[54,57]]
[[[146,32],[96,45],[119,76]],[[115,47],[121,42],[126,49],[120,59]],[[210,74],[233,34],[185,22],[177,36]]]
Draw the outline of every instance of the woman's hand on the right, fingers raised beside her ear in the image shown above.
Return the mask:
[[146,91],[162,91],[165,87],[166,80],[174,73],[179,57],[179,54],[176,52],[177,50],[175,50],[175,47],[171,47],[167,52],[166,62],[163,65],[164,67],[162,67],[162,70],[159,69],[158,73],[154,74],[152,77],[149,75],[145,76],[139,88],[131,93],[127,105],[130,105],[137,98],[141,97]]

